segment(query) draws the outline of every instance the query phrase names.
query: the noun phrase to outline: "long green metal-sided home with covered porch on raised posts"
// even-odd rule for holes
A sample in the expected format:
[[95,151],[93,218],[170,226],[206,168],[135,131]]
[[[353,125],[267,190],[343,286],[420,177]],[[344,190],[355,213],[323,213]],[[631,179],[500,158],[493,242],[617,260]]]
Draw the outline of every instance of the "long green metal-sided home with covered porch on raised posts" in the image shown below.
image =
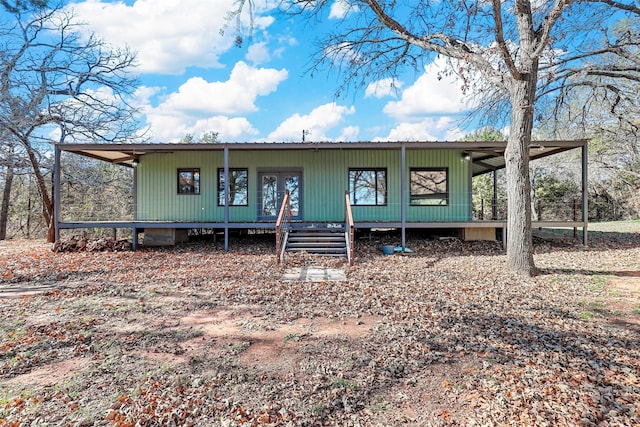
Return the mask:
[[[129,228],[135,248],[139,235],[143,244],[171,244],[187,230],[212,229],[224,233],[227,249],[230,230],[272,229],[284,251],[294,245],[290,233],[306,229],[346,233],[347,252],[357,229],[398,229],[402,246],[409,229],[495,238],[506,222],[474,220],[472,178],[495,177],[505,167],[505,148],[480,141],[57,144],[58,191],[62,153],[131,167],[134,213],[130,221],[66,221],[55,197],[56,236],[70,228]],[[571,149],[582,150],[581,215],[534,226],[582,228],[586,243],[586,141],[536,141],[530,158]],[[317,235],[316,244],[321,240]]]

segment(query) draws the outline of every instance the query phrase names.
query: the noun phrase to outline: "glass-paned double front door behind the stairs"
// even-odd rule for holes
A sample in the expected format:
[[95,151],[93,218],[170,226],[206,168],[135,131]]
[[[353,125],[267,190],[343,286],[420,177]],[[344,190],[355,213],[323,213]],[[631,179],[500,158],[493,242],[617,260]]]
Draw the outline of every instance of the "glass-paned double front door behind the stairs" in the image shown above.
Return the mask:
[[291,219],[302,219],[302,172],[273,171],[259,174],[258,218],[263,221],[276,220],[284,194],[291,195]]

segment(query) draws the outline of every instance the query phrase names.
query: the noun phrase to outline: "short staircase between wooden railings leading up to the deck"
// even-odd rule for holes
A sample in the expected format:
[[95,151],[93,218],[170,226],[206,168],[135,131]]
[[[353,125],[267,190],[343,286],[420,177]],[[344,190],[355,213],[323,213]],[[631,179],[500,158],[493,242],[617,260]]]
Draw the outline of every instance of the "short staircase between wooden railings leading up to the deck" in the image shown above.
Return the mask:
[[341,223],[290,224],[285,252],[308,252],[333,257],[348,257],[345,226]]

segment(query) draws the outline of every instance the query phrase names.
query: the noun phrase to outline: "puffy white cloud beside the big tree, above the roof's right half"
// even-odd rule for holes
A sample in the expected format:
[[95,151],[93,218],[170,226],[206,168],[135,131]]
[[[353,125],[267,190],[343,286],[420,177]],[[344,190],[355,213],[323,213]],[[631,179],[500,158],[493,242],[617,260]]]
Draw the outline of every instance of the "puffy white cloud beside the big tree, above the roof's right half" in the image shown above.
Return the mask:
[[400,120],[437,114],[458,114],[469,110],[457,76],[439,76],[446,69],[445,59],[425,67],[416,82],[402,92],[398,101],[387,103],[384,112]]

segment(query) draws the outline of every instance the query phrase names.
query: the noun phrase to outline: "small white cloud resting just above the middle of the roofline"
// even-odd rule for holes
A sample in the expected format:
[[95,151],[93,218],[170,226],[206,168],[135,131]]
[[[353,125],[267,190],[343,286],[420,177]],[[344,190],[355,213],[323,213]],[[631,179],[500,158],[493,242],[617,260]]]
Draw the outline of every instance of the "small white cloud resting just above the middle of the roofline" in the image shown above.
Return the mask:
[[302,131],[310,131],[308,141],[329,141],[326,132],[344,121],[344,117],[355,113],[354,107],[337,105],[335,102],[316,107],[309,114],[294,114],[283,121],[267,137],[268,141],[301,141]]

